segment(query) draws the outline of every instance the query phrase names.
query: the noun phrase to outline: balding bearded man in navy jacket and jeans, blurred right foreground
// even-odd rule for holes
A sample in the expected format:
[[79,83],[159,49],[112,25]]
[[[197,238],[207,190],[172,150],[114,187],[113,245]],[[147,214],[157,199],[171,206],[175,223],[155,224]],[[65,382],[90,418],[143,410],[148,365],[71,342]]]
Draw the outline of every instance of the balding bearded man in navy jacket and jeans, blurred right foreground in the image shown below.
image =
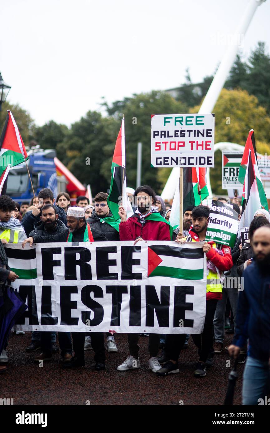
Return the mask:
[[[270,227],[254,232],[255,258],[244,271],[244,290],[239,293],[236,332],[230,355],[237,358],[249,338],[244,369],[242,398],[244,405],[265,404],[270,370]],[[266,403],[267,404],[267,403]]]

